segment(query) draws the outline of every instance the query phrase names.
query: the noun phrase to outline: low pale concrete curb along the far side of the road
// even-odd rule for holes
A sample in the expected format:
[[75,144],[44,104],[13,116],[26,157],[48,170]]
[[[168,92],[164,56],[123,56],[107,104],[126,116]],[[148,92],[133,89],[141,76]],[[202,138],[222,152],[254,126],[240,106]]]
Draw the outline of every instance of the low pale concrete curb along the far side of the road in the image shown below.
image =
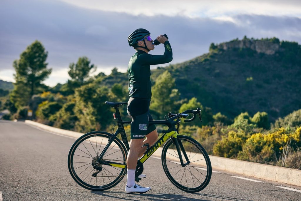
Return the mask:
[[[78,133],[70,130],[54,128],[35,121],[25,120],[26,124],[60,133],[62,135],[79,138],[84,133]],[[154,156],[161,157],[162,147],[159,147]],[[227,171],[230,173],[242,174],[249,177],[256,177],[259,179],[266,179],[270,181],[277,181],[286,184],[301,186],[301,170],[283,168],[273,165],[264,165],[260,163],[240,161],[236,159],[228,159],[219,156],[209,155],[212,168],[220,171]]]

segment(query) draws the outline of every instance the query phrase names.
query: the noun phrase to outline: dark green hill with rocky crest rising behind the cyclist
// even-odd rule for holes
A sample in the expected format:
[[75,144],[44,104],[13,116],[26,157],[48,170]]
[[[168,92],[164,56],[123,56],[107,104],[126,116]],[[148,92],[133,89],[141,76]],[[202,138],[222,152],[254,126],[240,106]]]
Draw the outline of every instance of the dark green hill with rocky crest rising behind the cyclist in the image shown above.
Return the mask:
[[[196,97],[214,114],[234,118],[245,111],[266,111],[269,121],[275,121],[301,108],[301,47],[296,42],[244,37],[211,44],[207,54],[152,70],[153,84],[166,70],[181,99]],[[111,75],[99,74],[96,82],[126,88],[128,75],[115,68]]]

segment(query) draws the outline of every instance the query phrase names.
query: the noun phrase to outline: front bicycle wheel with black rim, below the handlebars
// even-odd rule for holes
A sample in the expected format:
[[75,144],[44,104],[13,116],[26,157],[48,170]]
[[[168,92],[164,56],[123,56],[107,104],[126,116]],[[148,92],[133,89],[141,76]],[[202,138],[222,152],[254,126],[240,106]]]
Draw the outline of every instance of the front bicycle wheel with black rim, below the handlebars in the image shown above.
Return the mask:
[[[182,167],[173,140],[182,143],[190,163]],[[186,163],[181,151],[183,162]],[[163,170],[172,184],[177,188],[195,193],[203,190],[211,179],[212,168],[209,156],[203,146],[188,136],[169,139],[162,149]],[[187,170],[187,172],[185,172]],[[183,172],[183,174],[182,174]]]

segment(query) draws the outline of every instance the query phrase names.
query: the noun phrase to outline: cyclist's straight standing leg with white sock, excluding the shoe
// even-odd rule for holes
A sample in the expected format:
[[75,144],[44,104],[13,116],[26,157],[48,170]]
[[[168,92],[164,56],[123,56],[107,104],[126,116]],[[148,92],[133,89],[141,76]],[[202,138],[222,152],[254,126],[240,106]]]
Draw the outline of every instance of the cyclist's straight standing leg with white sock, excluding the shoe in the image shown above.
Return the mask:
[[141,149],[142,143],[144,138],[142,139],[133,139],[130,143],[130,150],[126,159],[126,166],[127,166],[127,179],[126,179],[126,185],[128,187],[132,187],[135,183],[135,171],[137,167],[137,159],[138,159],[138,153]]

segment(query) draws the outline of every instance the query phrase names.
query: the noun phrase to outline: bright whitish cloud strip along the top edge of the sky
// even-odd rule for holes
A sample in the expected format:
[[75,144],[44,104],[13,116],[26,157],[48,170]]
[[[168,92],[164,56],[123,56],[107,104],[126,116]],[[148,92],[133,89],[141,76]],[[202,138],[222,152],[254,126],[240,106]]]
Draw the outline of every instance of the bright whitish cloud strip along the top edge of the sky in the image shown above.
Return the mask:
[[153,0],[151,2],[99,1],[99,0],[62,0],[70,5],[100,11],[124,12],[131,15],[166,16],[182,15],[187,17],[218,17],[225,14],[263,14],[288,15],[301,14],[301,2],[296,0]]

